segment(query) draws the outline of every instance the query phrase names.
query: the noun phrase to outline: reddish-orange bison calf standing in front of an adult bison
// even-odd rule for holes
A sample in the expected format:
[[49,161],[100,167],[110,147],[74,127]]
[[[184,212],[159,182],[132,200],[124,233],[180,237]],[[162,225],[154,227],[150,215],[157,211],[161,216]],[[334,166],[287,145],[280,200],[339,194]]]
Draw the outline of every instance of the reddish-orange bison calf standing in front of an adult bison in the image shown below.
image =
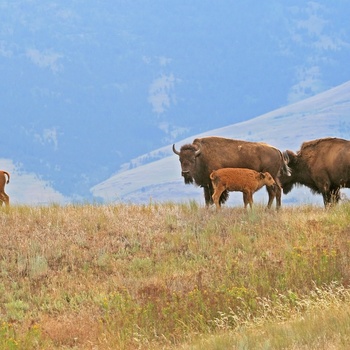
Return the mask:
[[217,209],[220,209],[220,196],[224,191],[243,192],[244,208],[253,204],[253,193],[260,190],[264,185],[277,186],[270,173],[257,172],[245,168],[223,168],[214,170],[210,174],[213,184],[213,201]]

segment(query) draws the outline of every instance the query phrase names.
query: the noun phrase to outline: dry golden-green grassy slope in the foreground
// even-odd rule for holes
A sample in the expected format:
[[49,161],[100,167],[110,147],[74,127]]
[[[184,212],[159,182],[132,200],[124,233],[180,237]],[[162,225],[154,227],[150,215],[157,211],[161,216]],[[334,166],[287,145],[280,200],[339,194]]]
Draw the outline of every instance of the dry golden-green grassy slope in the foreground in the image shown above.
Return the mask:
[[349,219],[347,203],[3,208],[0,348],[346,349]]

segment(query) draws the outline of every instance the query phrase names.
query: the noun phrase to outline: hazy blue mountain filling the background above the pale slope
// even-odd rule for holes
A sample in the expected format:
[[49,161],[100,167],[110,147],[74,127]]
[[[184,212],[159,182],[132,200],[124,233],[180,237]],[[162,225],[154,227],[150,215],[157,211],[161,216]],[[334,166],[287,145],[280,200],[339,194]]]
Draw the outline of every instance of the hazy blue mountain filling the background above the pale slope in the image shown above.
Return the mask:
[[2,0],[0,158],[55,198],[91,200],[139,155],[350,80],[349,9]]

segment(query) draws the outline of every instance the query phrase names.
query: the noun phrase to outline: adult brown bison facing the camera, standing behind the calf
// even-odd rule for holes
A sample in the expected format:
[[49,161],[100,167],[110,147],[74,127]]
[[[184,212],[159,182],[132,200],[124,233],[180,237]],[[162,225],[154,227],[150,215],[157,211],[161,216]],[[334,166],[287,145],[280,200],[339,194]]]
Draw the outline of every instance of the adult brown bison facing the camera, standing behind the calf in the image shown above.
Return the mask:
[[[213,170],[220,168],[248,168],[259,172],[268,171],[277,184],[278,177],[283,171],[288,174],[289,169],[281,151],[261,142],[248,142],[222,137],[204,137],[195,139],[192,144],[183,145],[180,152],[173,145],[173,152],[179,156],[182,176],[185,184],[195,182],[203,187],[205,203],[213,203],[214,193],[210,180]],[[270,208],[276,197],[276,207],[281,206],[281,187],[267,187]],[[220,204],[228,198],[228,191],[220,197]]]

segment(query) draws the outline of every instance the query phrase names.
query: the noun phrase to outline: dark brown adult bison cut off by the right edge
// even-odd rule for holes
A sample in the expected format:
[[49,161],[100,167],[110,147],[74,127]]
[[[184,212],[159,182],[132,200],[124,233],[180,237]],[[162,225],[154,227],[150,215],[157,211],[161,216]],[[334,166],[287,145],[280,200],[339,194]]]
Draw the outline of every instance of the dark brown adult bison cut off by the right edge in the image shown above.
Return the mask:
[[287,150],[284,155],[292,174],[280,178],[283,193],[305,185],[322,194],[327,208],[338,203],[341,187],[350,188],[350,141],[330,137],[307,141],[296,154]]

